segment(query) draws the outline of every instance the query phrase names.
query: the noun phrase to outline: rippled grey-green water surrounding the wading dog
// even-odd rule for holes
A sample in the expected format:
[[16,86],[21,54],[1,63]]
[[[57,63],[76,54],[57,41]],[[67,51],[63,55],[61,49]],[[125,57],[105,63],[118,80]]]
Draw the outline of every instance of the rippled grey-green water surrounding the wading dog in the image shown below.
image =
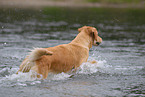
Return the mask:
[[[0,97],[145,96],[145,10],[0,9]],[[33,47],[69,43],[77,28],[95,26],[103,43],[73,74],[49,74],[46,80],[19,73]]]

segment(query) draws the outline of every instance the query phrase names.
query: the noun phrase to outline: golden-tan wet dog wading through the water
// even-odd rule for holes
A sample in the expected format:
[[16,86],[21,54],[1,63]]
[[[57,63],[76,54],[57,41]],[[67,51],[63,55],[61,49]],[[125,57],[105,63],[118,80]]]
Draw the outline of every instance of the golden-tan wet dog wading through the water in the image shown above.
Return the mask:
[[102,38],[96,28],[84,26],[78,29],[79,34],[68,44],[49,48],[35,48],[20,65],[18,72],[37,72],[46,79],[49,72],[61,73],[76,70],[83,62],[87,62],[89,49],[98,46]]

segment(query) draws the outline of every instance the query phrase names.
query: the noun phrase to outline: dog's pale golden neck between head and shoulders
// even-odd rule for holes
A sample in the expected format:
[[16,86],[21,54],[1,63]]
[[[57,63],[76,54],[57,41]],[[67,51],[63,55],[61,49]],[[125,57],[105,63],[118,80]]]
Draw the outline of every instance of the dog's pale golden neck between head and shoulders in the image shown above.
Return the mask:
[[82,46],[89,50],[92,47],[92,39],[87,33],[85,33],[85,31],[82,31],[76,36],[76,38],[70,44]]

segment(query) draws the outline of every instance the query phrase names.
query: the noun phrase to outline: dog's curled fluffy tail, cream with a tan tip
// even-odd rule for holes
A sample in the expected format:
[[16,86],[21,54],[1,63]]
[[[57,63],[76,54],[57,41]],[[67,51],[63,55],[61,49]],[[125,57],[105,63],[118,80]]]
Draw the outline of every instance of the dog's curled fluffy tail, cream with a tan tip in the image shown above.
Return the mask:
[[30,52],[29,60],[33,62],[33,61],[39,59],[43,55],[52,55],[52,54],[53,54],[53,52],[48,51],[45,48],[35,48],[34,50],[32,50]]

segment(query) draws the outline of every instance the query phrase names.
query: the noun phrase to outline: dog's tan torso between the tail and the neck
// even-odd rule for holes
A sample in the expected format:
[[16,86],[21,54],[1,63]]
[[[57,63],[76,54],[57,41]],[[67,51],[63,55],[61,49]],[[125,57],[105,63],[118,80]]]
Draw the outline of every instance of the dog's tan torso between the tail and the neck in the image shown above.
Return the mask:
[[52,56],[45,56],[51,58],[50,70],[57,73],[68,72],[72,68],[79,67],[82,62],[87,61],[86,55],[89,54],[86,49],[72,44],[60,45],[48,50],[53,52]]

